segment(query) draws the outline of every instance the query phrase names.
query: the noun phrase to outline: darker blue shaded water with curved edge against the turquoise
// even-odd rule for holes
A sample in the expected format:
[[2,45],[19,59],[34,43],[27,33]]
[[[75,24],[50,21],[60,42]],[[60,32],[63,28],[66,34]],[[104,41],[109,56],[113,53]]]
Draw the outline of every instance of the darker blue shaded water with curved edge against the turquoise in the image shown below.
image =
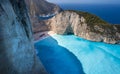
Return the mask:
[[85,74],[80,60],[67,48],[48,37],[35,43],[37,55],[50,74]]

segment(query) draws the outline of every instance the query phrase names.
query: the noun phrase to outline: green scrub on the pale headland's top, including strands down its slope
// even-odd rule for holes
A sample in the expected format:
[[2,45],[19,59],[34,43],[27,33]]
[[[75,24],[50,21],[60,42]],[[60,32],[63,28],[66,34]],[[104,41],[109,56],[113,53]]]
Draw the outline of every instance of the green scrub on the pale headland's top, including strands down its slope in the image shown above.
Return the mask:
[[[110,30],[114,30],[113,25],[111,25],[110,23],[102,20],[100,17],[94,15],[94,14],[90,14],[88,12],[83,12],[83,11],[76,11],[76,10],[65,10],[63,12],[75,12],[77,13],[79,16],[83,16],[86,20],[86,23],[90,28],[90,30],[92,32],[97,32],[97,33],[101,33],[99,30],[95,30],[94,26],[97,25],[99,27],[101,27],[102,29],[110,29]],[[103,34],[103,32],[101,33]]]

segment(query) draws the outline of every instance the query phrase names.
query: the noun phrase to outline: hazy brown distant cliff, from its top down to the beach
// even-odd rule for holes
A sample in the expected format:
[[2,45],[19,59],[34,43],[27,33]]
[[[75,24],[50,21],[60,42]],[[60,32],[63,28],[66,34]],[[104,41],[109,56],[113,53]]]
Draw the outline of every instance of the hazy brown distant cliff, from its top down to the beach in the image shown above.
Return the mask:
[[31,16],[33,25],[33,32],[48,31],[49,27],[46,25],[46,21],[40,20],[39,16],[45,16],[48,14],[57,14],[62,9],[46,0],[25,0]]

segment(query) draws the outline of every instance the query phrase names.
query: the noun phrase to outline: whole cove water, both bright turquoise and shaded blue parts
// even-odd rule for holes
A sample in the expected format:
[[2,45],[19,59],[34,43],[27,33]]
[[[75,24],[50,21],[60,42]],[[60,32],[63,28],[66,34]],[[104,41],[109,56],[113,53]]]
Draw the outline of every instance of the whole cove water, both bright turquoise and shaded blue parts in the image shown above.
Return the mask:
[[50,74],[120,74],[120,45],[53,35],[35,48]]

